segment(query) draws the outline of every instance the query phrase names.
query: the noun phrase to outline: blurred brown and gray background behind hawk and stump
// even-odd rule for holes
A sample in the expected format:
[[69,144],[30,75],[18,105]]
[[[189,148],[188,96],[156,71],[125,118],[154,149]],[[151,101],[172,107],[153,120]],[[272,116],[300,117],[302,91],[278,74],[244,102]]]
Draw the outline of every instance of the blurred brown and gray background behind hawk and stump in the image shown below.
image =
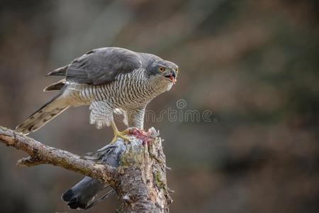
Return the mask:
[[[155,53],[180,67],[148,107],[213,112],[211,122],[155,126],[165,138],[171,212],[318,212],[318,1],[1,1],[0,125],[14,128],[52,96],[45,74],[93,48]],[[123,129],[123,126],[121,126]],[[317,130],[316,130],[317,129]],[[69,109],[31,136],[82,154],[111,140]],[[72,212],[82,178],[16,168],[0,147],[0,212]],[[87,212],[114,212],[116,196]]]

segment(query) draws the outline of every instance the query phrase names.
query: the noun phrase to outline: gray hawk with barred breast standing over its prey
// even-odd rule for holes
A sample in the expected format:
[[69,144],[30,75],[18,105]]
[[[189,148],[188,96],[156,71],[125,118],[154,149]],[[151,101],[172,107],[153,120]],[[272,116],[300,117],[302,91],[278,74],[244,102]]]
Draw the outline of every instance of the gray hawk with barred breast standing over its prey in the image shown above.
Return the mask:
[[44,91],[59,92],[16,127],[24,134],[36,131],[69,107],[89,105],[90,124],[98,129],[112,126],[113,141],[127,131],[118,131],[113,113],[123,114],[126,126],[143,129],[145,107],[157,95],[169,91],[179,67],[157,55],[135,53],[124,48],[91,50],[69,65],[49,72],[62,80]]

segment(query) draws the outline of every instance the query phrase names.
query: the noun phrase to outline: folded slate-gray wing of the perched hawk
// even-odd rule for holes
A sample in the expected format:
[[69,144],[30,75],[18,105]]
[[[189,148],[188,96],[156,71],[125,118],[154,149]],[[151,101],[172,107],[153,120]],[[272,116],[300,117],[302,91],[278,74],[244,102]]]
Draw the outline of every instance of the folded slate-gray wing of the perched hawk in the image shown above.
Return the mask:
[[101,85],[113,82],[120,73],[129,73],[140,67],[141,58],[133,51],[124,48],[99,48],[48,75],[65,75],[67,82]]

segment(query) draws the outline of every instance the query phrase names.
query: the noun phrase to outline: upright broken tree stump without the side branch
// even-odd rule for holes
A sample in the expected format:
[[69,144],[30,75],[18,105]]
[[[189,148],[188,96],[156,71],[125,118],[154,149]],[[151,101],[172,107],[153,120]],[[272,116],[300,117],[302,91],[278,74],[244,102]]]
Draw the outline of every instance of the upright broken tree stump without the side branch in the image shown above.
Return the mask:
[[123,212],[169,212],[165,155],[155,129],[135,130],[140,140],[132,141],[121,155],[118,167],[119,195]]

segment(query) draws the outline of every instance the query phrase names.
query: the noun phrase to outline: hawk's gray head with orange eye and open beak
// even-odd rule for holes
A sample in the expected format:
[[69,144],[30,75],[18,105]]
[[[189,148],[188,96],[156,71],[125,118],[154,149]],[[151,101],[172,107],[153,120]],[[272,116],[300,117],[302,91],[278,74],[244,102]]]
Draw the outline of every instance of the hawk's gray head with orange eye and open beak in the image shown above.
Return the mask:
[[155,60],[149,70],[150,75],[172,84],[177,82],[178,72],[179,67],[168,60]]

